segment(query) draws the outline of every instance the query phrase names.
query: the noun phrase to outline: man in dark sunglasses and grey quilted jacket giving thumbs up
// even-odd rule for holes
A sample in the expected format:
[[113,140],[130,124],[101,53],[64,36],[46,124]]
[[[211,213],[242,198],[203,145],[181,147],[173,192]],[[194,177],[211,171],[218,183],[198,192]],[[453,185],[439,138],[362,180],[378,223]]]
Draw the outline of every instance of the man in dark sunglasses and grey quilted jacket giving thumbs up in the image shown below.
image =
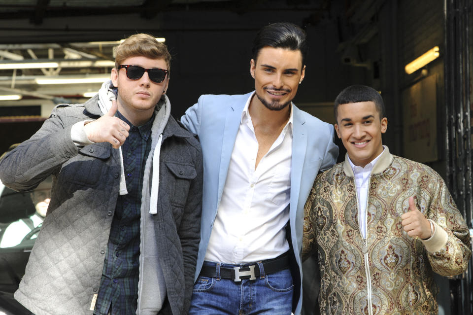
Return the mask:
[[18,191],[52,175],[48,213],[15,298],[36,315],[186,314],[200,233],[200,144],[170,115],[166,45],[117,47],[111,82],[58,105],[0,161]]

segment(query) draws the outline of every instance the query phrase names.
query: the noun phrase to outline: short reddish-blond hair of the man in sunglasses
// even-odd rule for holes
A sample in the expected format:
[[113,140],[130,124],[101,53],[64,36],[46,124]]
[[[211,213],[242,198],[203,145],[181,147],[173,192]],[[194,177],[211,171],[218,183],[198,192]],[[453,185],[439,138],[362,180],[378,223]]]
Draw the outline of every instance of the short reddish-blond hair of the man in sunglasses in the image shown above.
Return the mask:
[[115,68],[130,57],[144,56],[150,59],[164,59],[168,66],[168,71],[171,69],[171,55],[168,47],[156,40],[155,37],[148,34],[135,34],[126,38],[117,47],[117,54],[115,57]]

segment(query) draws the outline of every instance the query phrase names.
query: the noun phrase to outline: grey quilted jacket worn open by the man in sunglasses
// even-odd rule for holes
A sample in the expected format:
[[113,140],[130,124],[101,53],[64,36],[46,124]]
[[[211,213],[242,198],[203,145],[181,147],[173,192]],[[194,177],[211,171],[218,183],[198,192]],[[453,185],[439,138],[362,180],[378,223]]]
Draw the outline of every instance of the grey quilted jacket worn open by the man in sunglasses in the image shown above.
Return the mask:
[[[119,192],[119,152],[109,143],[78,148],[70,129],[101,116],[97,101],[96,96],[84,104],[58,105],[31,139],[0,161],[1,181],[17,191],[32,190],[53,175],[48,213],[15,292],[36,315],[93,314]],[[200,240],[202,163],[198,141],[169,117],[153,216],[167,288],[159,314],[187,314],[189,308]],[[140,281],[147,279],[140,273]],[[145,302],[138,304],[138,314],[158,313],[151,307],[156,293],[146,286],[138,292],[138,302]]]

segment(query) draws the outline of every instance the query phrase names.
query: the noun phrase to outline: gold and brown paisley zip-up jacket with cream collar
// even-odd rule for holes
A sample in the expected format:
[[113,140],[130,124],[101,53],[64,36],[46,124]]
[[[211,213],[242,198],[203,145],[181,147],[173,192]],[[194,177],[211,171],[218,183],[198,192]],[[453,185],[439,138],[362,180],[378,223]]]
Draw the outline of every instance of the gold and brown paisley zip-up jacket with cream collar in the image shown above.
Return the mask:
[[[370,175],[363,239],[347,160],[320,174],[305,205],[303,256],[318,250],[321,314],[438,314],[433,272],[463,273],[470,235],[443,179],[386,147]],[[403,230],[408,198],[434,221],[424,241]]]

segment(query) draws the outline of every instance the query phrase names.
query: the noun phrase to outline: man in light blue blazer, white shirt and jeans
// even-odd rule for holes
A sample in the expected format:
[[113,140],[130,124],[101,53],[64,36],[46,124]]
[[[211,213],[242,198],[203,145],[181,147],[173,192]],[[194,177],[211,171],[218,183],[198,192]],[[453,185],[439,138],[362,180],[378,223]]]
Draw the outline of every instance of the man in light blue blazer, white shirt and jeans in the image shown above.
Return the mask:
[[333,127],[292,104],[306,53],[296,25],[262,28],[250,62],[255,91],[203,95],[181,117],[204,159],[190,315],[301,312],[304,204],[338,156]]

